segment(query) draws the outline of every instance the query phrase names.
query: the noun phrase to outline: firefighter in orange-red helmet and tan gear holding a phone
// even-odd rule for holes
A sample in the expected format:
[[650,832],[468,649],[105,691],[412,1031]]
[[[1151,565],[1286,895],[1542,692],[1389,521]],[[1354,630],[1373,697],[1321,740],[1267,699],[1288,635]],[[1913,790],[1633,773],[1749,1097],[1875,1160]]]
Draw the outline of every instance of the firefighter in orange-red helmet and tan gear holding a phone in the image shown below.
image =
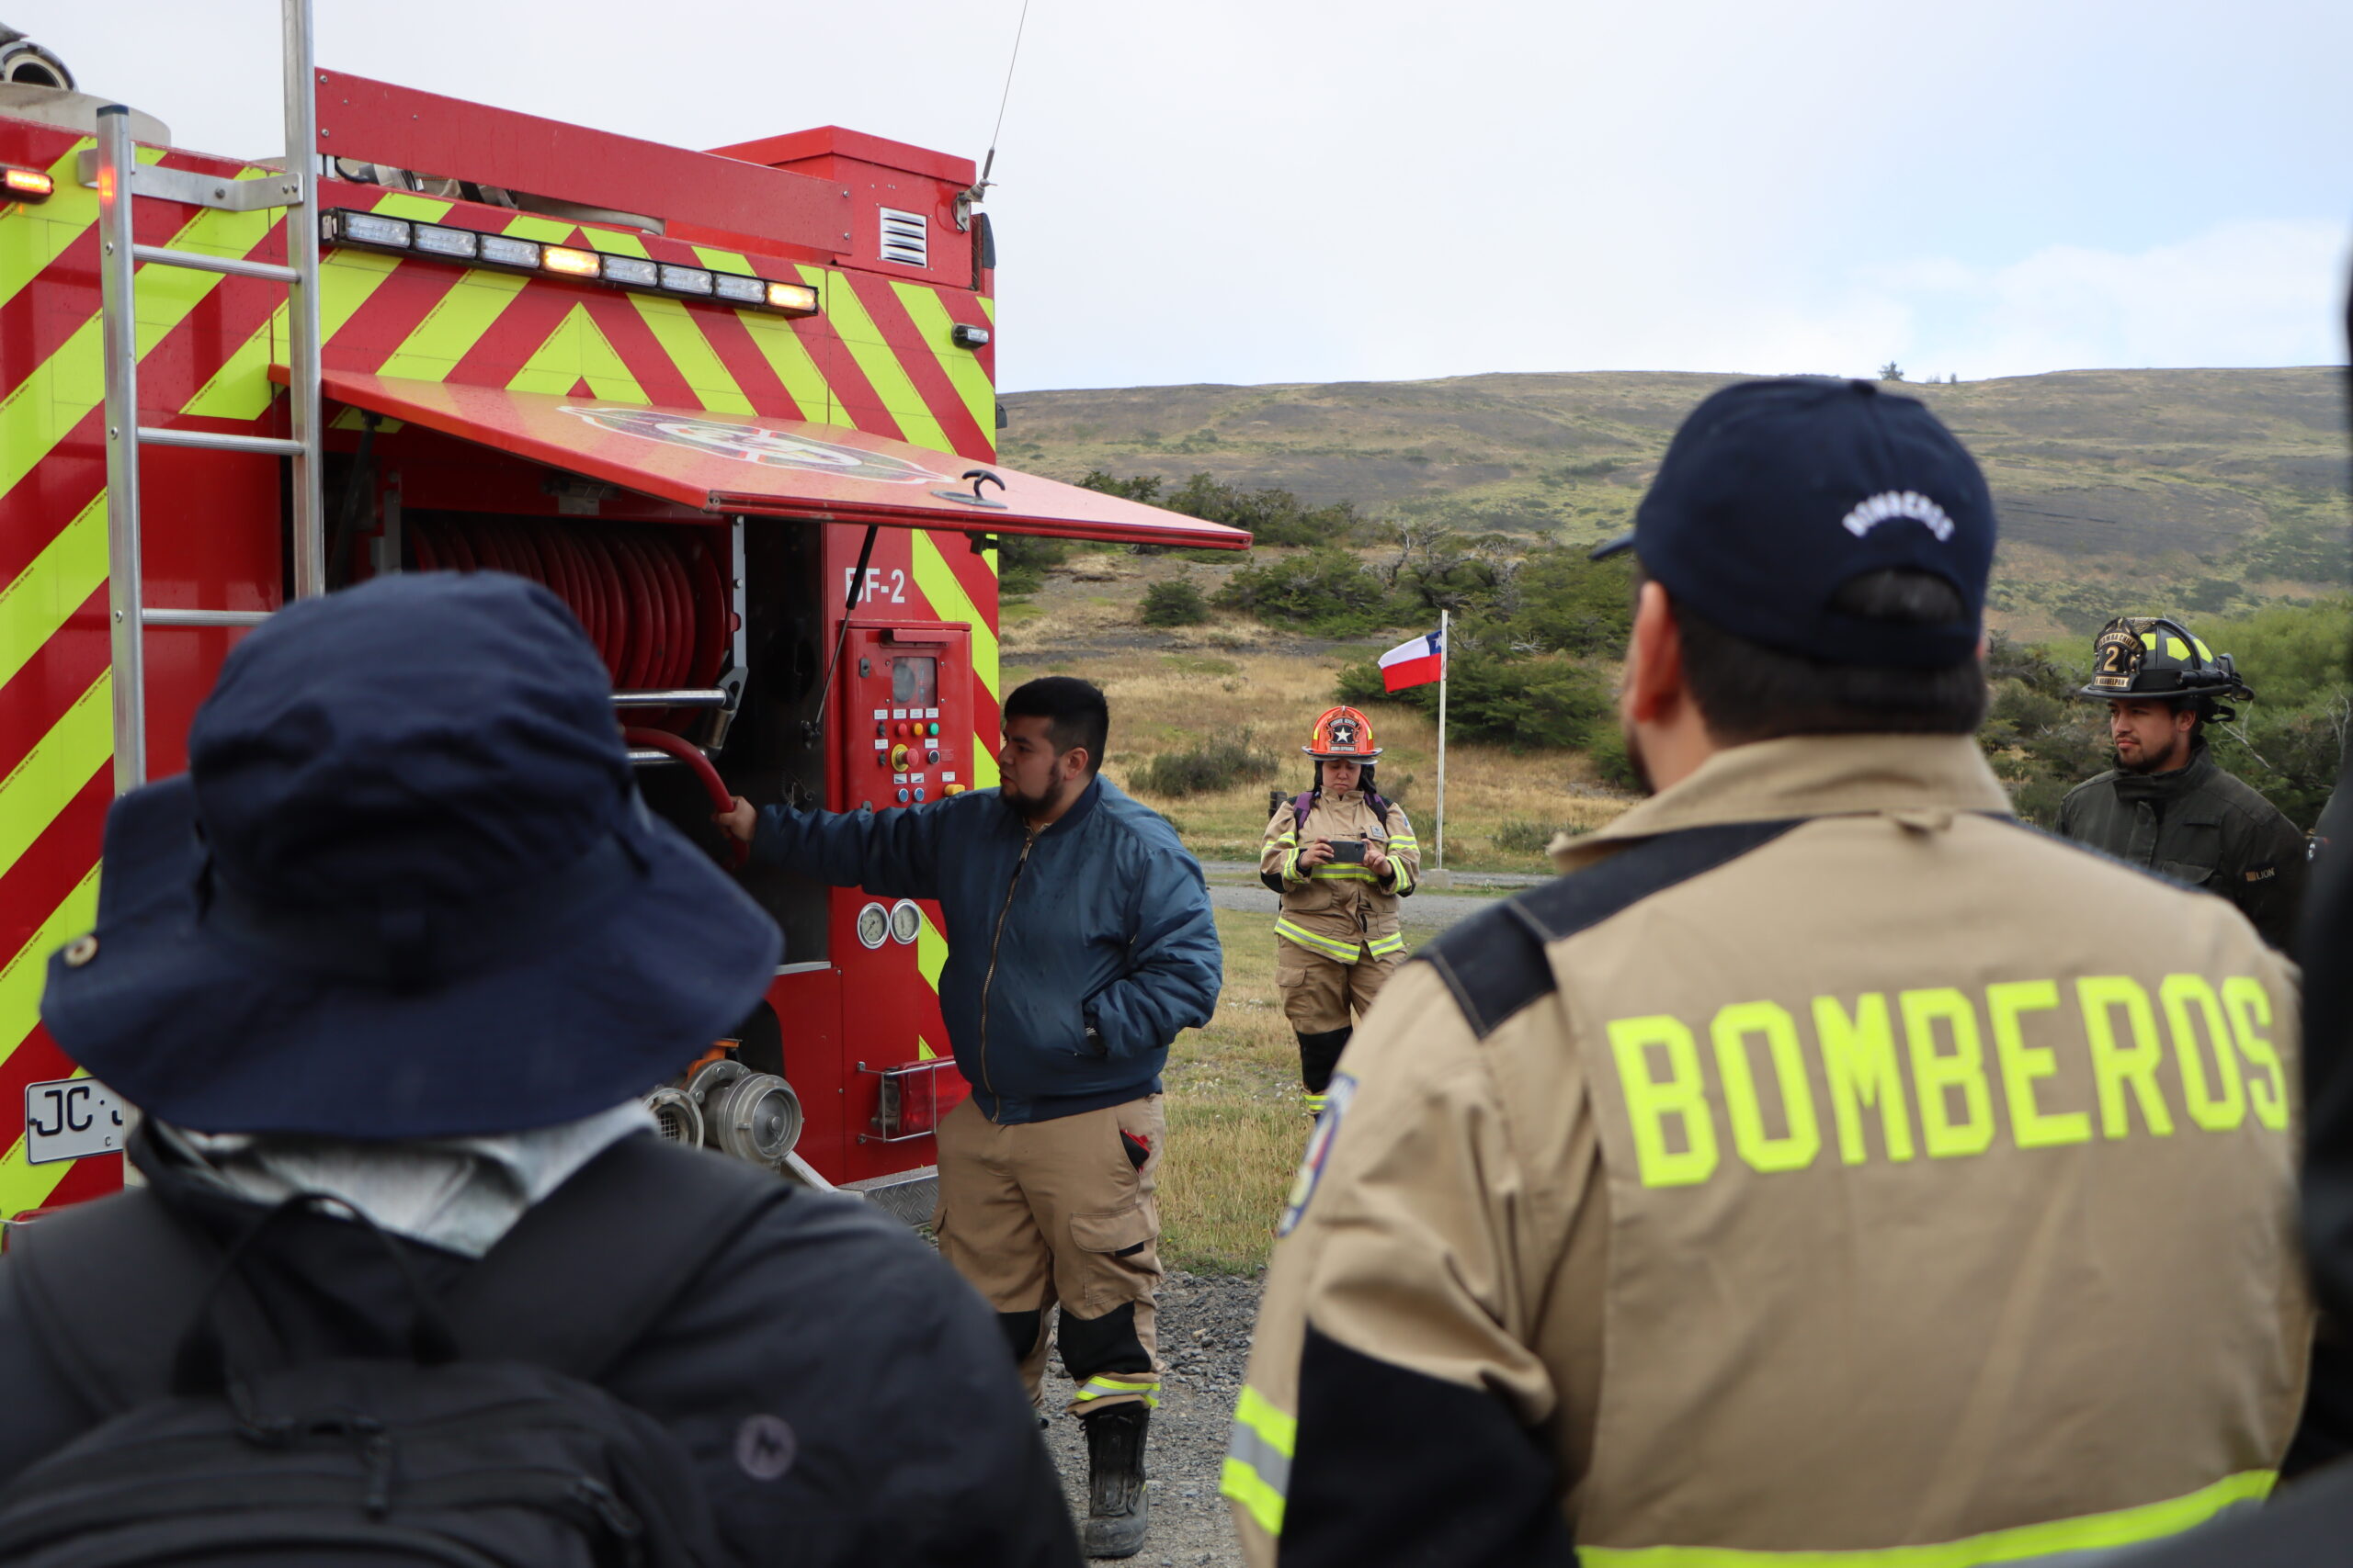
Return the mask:
[[1282,896],[1275,917],[1275,985],[1299,1034],[1306,1105],[1322,1112],[1325,1088],[1353,1018],[1405,961],[1398,900],[1414,891],[1421,844],[1405,809],[1372,788],[1372,719],[1329,708],[1308,745],[1315,788],[1285,799],[1266,823],[1259,879]]

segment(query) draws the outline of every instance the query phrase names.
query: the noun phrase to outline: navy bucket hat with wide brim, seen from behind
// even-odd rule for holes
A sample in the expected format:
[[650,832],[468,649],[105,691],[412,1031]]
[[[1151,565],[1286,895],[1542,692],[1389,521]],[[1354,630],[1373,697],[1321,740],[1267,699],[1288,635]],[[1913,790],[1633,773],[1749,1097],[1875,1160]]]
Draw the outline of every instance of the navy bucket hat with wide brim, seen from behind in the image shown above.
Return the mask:
[[673,1077],[776,973],[774,922],[638,797],[546,588],[379,578],[228,656],[188,773],[106,818],[59,1046],[207,1133],[456,1138]]

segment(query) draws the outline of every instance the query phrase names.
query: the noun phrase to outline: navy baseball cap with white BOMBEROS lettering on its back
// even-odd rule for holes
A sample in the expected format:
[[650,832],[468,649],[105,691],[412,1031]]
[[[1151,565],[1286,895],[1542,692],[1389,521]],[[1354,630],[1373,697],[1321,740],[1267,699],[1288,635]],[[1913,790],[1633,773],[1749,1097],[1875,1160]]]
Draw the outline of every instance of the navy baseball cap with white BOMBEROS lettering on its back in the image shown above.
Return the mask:
[[[1748,642],[1840,665],[1939,670],[1977,656],[1993,569],[1993,496],[1977,458],[1915,397],[1791,376],[1713,393],[1675,430],[1633,531],[1668,597]],[[1894,625],[1838,611],[1889,567],[1951,583],[1962,616]]]

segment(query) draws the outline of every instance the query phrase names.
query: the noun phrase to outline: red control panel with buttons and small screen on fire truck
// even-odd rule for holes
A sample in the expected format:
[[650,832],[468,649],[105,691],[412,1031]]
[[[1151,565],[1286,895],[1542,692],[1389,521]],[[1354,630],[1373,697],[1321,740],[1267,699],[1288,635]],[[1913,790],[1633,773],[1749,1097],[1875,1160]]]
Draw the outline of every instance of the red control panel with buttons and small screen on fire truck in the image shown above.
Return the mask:
[[972,635],[962,625],[849,628],[842,809],[922,806],[972,788]]

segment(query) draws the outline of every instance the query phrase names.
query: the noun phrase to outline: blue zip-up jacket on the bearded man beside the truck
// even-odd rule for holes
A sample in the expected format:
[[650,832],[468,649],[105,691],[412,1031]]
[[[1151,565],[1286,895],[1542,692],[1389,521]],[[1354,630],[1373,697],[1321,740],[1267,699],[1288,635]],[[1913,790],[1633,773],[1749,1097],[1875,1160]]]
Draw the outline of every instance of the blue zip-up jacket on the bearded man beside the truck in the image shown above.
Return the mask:
[[882,813],[767,806],[751,853],[880,898],[939,900],[939,1011],[991,1121],[1160,1093],[1176,1030],[1217,1009],[1224,952],[1200,863],[1108,778],[1035,839],[995,790],[967,790]]

